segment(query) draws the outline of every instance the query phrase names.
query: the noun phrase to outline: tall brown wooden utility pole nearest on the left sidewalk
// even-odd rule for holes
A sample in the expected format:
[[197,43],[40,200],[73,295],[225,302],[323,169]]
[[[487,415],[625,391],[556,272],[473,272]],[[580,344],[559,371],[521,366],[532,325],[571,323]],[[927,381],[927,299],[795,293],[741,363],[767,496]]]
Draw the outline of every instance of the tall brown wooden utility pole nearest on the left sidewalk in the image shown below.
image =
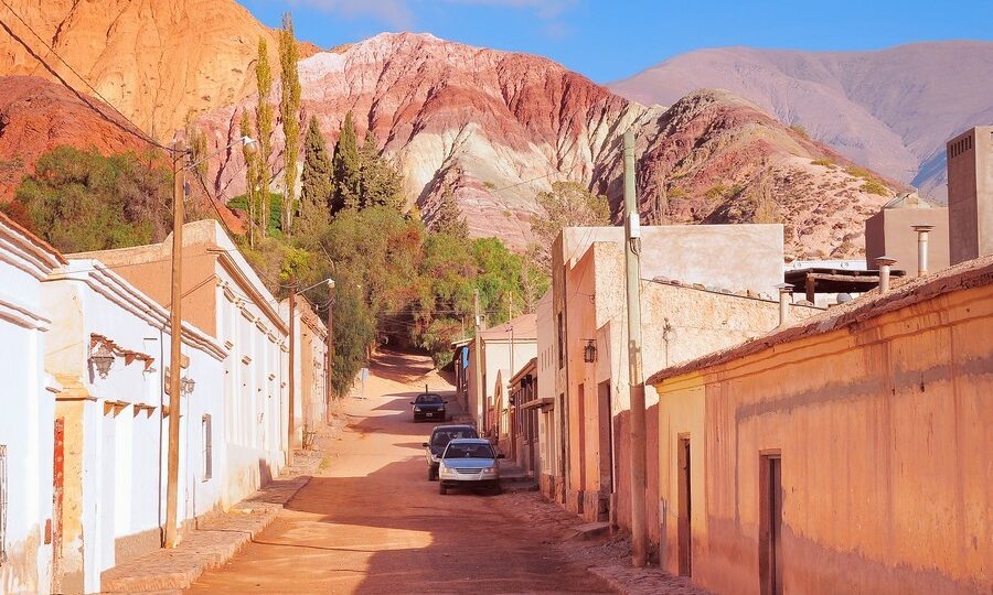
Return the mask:
[[179,497],[179,424],[182,389],[183,345],[183,198],[186,145],[174,143],[172,155],[172,300],[169,314],[169,458],[166,476],[166,548],[177,545],[177,500]]

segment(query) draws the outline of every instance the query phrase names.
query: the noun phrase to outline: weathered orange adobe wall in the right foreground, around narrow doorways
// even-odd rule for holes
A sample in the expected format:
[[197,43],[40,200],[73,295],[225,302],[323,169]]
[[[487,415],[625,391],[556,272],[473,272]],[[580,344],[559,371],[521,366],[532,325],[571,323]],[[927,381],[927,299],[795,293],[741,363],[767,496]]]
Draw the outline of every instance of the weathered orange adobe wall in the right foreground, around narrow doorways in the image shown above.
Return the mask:
[[663,567],[680,570],[686,435],[695,583],[760,592],[761,455],[778,452],[786,593],[990,593],[993,264],[982,274],[659,380]]

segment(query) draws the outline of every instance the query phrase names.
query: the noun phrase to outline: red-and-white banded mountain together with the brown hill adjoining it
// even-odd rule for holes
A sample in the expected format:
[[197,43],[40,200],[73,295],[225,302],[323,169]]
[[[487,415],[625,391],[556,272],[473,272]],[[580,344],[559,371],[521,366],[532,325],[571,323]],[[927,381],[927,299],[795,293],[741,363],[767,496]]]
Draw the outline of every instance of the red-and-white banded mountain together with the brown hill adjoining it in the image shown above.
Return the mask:
[[[867,193],[866,180],[846,172],[837,153],[725,93],[645,108],[545,58],[415,34],[318,53],[300,62],[300,73],[305,117],[317,116],[329,140],[351,110],[360,134],[373,130],[396,160],[426,217],[450,188],[474,235],[517,248],[530,240],[535,194],[556,180],[619,204],[618,139],[629,126],[640,139],[642,209],[662,220],[782,219],[803,230],[788,237],[790,250],[841,257],[861,250],[856,207],[871,213],[890,195],[882,186],[882,194]],[[233,140],[253,102],[204,116],[207,138]],[[216,192],[243,192],[243,172],[239,153],[229,153],[212,172]],[[760,187],[768,196],[756,199]],[[668,204],[659,208],[663,195]]]

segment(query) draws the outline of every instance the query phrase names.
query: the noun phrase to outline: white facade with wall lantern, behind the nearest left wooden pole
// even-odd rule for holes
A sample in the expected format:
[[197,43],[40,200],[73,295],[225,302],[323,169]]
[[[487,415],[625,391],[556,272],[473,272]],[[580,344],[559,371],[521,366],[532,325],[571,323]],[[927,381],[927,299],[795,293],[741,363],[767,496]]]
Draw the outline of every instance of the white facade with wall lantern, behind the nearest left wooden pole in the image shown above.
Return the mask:
[[[99,591],[100,573],[122,558],[156,549],[164,522],[169,418],[163,405],[169,361],[168,312],[96,260],[73,260],[45,283],[42,302],[53,313],[49,370],[62,382],[57,414],[65,418],[67,458],[66,591]],[[203,474],[204,414],[224,428],[226,349],[184,325],[184,377],[195,381],[182,398],[179,521],[221,504],[225,450],[214,431],[213,475]],[[106,378],[89,363],[92,339],[106,337],[118,357]],[[124,351],[152,358],[126,363]],[[170,414],[172,414],[170,412]],[[67,455],[70,457],[70,455]],[[71,457],[70,457],[71,458]],[[74,528],[76,530],[74,530]]]

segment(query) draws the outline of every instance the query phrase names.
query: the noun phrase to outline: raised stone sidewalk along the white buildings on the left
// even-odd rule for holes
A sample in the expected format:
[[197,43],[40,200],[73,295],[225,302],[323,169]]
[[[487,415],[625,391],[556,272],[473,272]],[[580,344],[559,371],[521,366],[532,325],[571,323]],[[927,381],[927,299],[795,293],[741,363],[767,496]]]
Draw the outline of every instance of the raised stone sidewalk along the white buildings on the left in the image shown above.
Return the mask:
[[278,478],[228,512],[200,521],[174,550],[156,550],[105,571],[100,575],[103,593],[180,593],[205,571],[231,560],[273,522],[307,485],[322,458],[321,451],[297,451],[293,465],[284,468]]

